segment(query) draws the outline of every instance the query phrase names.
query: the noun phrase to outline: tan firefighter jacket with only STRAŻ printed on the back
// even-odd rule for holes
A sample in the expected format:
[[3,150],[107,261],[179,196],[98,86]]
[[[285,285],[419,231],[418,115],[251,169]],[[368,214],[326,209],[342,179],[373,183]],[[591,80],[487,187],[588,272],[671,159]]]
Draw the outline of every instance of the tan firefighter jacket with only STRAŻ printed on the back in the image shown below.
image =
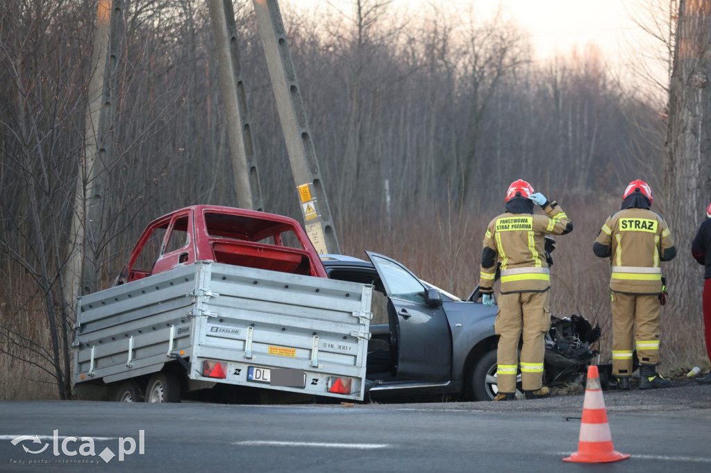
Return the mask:
[[676,256],[664,219],[640,208],[611,214],[597,235],[593,251],[610,259],[610,289],[627,294],[660,294],[663,284],[659,263]]

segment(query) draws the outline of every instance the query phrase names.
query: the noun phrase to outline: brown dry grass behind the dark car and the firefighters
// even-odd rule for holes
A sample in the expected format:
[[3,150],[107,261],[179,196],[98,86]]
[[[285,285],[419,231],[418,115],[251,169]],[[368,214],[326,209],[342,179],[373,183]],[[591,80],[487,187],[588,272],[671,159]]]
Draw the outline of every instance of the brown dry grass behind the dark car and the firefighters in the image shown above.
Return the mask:
[[[592,243],[606,217],[619,210],[619,202],[606,200],[595,205],[580,200],[561,205],[573,220],[574,231],[555,237],[551,312],[557,317],[582,315],[592,325],[599,324],[602,337],[593,348],[600,352],[599,362],[609,362],[612,346],[609,261],[594,256]],[[479,283],[481,241],[486,225],[501,212],[498,207],[461,214],[418,209],[409,216],[393,218],[400,224],[394,224],[392,231],[387,231],[380,222],[346,222],[341,235],[347,238],[342,238],[341,248],[344,253],[363,259],[366,249],[391,256],[423,279],[466,298]],[[685,258],[690,258],[688,249],[679,248],[677,259],[663,263],[663,271],[664,265],[680,264],[683,261],[678,260]],[[674,288],[680,284],[696,284],[697,298],[675,299]],[[660,371],[688,371],[693,366],[710,365],[703,340],[701,284],[700,268],[689,274],[687,280],[670,284],[670,302],[662,310]]]

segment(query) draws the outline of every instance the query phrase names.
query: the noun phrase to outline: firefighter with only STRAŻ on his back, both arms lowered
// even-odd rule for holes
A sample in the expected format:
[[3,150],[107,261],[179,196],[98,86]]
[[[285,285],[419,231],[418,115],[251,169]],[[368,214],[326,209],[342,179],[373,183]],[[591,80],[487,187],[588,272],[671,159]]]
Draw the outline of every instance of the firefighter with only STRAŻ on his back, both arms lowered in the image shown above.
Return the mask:
[[621,210],[610,215],[593,244],[594,254],[609,258],[612,266],[612,374],[620,389],[630,388],[635,348],[639,388],[671,386],[656,372],[665,290],[659,263],[673,259],[676,249],[664,219],[649,210],[652,201],[649,185],[633,180],[622,195]]

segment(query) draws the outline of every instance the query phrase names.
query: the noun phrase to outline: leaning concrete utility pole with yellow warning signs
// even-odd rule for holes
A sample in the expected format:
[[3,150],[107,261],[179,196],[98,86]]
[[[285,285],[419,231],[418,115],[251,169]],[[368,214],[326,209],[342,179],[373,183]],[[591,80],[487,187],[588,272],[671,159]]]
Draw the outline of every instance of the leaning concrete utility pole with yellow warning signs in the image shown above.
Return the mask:
[[264,45],[269,77],[277,100],[279,121],[292,165],[294,184],[299,191],[304,227],[319,254],[340,253],[336,230],[328,207],[314,142],[301,101],[292,54],[284,33],[277,0],[252,0],[257,27]]

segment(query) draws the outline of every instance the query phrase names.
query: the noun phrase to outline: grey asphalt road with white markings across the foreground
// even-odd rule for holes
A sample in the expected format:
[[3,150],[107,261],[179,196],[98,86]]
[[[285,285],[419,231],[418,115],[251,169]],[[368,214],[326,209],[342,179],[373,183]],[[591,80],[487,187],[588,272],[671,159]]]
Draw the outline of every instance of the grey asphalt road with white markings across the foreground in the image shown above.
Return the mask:
[[[562,461],[577,450],[583,399],[355,406],[5,401],[0,471],[711,471],[711,386],[606,391],[615,450],[631,455],[611,464]],[[29,437],[13,445],[18,435]],[[85,455],[91,442],[80,437],[94,439],[94,456]]]

